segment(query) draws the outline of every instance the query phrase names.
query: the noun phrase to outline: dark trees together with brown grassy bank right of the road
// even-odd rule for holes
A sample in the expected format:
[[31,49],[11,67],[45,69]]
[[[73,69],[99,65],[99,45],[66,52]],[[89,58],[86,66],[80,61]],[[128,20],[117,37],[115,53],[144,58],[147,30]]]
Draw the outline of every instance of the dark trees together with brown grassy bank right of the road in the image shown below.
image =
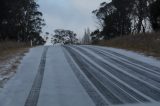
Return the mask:
[[160,0],[111,0],[92,13],[99,26],[92,44],[160,56]]

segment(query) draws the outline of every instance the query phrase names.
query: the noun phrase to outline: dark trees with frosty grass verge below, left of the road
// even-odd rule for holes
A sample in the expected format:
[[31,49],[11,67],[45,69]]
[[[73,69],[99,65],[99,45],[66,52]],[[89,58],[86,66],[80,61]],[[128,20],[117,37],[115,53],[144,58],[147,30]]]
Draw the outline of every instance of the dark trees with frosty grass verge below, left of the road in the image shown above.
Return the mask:
[[40,36],[45,25],[35,0],[0,1],[0,86],[16,73],[31,47],[45,43]]

